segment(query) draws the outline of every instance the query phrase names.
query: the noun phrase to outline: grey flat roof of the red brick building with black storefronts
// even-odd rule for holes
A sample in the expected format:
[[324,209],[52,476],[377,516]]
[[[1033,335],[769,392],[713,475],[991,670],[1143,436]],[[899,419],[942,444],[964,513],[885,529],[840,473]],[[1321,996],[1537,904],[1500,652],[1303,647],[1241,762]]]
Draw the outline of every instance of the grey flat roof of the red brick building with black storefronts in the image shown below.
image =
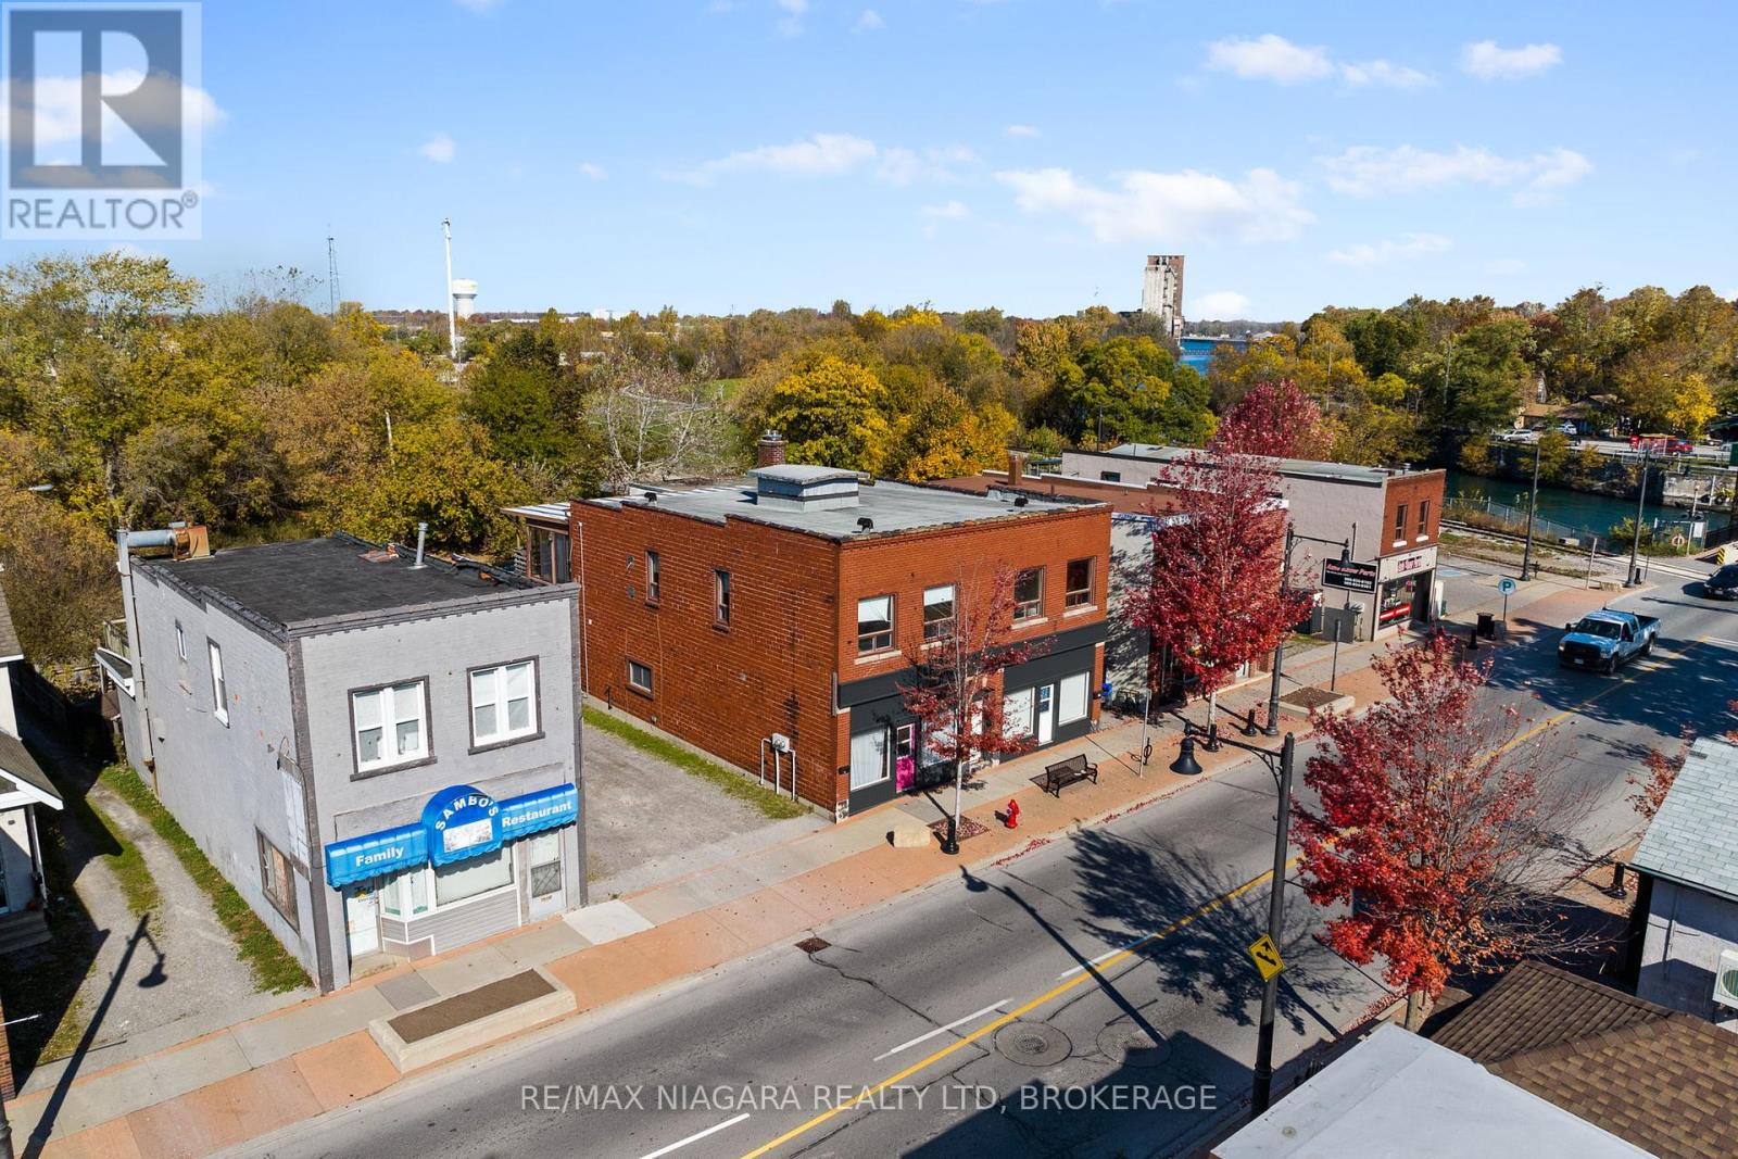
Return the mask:
[[[657,499],[648,499],[655,495]],[[1013,495],[970,495],[942,487],[921,487],[916,483],[890,483],[885,480],[862,483],[857,490],[857,504],[850,507],[789,509],[756,502],[756,488],[747,483],[720,483],[716,487],[695,487],[688,490],[659,490],[634,487],[627,495],[608,495],[605,499],[587,499],[584,502],[600,507],[647,507],[653,511],[671,511],[692,520],[723,523],[746,520],[782,527],[793,532],[820,535],[826,539],[867,539],[871,535],[888,535],[899,532],[926,532],[942,527],[965,527],[989,520],[1029,520],[1060,511],[1083,511],[1104,504],[1057,502],[1025,495],[1025,506],[1015,506]],[[869,532],[859,528],[859,520],[871,520]]]

